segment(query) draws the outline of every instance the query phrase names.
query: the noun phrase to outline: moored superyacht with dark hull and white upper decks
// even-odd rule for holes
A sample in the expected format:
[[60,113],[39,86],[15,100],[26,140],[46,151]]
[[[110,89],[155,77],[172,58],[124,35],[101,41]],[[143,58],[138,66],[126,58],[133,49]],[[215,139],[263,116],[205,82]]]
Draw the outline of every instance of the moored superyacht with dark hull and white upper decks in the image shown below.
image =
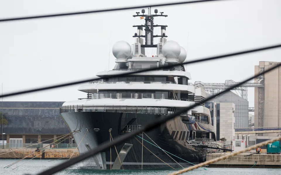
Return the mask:
[[[65,102],[60,108],[68,128],[75,131],[72,137],[80,154],[206,97],[204,89],[189,84],[191,74],[184,65],[109,78],[124,71],[133,73],[186,60],[186,50],[175,41],[167,41],[167,26],[153,22],[167,15],[157,9],[151,14],[150,8],[148,14],[144,9],[141,13],[133,15],[145,23],[133,26],[137,29],[135,43],[119,41],[112,47],[116,57],[113,70],[98,72],[101,80],[78,88],[87,98]],[[156,28],[160,35],[154,35]],[[153,43],[154,38],[159,38],[159,43]],[[157,53],[147,57],[145,48],[155,48]],[[105,149],[83,164],[97,169],[186,167],[205,161],[208,145],[215,138],[210,110],[202,104],[150,132]]]

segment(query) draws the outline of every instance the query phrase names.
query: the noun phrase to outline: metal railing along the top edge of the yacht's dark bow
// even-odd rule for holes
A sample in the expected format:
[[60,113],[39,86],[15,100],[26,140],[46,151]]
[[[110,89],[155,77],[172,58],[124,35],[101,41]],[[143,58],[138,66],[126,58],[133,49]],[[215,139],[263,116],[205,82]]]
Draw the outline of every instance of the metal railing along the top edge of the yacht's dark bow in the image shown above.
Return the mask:
[[71,105],[62,106],[60,113],[68,112],[122,112],[122,113],[142,113],[142,114],[160,114],[169,115],[178,112],[180,109],[165,107],[147,107],[147,106],[94,106],[94,105]]

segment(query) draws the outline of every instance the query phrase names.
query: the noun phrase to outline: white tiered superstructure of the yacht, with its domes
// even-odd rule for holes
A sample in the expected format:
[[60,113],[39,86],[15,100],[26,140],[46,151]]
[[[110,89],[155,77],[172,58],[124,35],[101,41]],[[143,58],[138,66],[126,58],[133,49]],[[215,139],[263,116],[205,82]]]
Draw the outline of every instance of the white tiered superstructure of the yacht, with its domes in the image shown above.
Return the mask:
[[[79,91],[88,94],[88,98],[64,103],[71,105],[93,106],[153,106],[184,108],[194,104],[195,101],[205,98],[204,89],[195,89],[188,84],[191,74],[183,66],[172,69],[159,69],[149,72],[133,73],[136,70],[160,67],[161,65],[184,62],[186,51],[174,41],[163,44],[162,53],[153,57],[133,55],[137,43],[130,45],[119,41],[113,46],[113,55],[116,65],[111,71],[98,72],[96,75],[102,81],[90,82],[82,85]],[[139,45],[137,45],[139,47]],[[174,47],[173,47],[174,46]],[[140,46],[141,47],[141,46]],[[166,57],[165,57],[166,56]],[[124,71],[132,72],[128,76],[107,78],[110,75],[122,74]],[[197,106],[186,114],[198,114],[211,123],[210,111],[205,106]],[[202,117],[203,118],[203,117]]]

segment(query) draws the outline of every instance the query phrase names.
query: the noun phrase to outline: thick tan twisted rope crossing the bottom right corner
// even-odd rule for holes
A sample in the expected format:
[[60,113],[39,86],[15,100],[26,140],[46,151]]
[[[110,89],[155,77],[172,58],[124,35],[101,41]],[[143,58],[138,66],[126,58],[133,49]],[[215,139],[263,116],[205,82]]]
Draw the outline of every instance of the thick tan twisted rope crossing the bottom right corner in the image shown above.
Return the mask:
[[265,142],[261,142],[261,143],[259,143],[259,144],[256,144],[256,145],[247,147],[247,148],[245,148],[245,149],[242,149],[242,150],[240,150],[240,151],[238,151],[238,152],[233,152],[233,153],[231,153],[231,154],[228,154],[228,155],[225,155],[225,156],[222,156],[222,157],[218,157],[218,158],[215,158],[215,159],[212,159],[212,160],[208,160],[208,161],[206,161],[206,162],[202,162],[202,163],[200,163],[200,164],[197,164],[197,165],[194,165],[194,166],[190,166],[190,167],[188,167],[188,168],[186,168],[186,169],[179,170],[179,171],[174,172],[174,173],[171,173],[171,174],[169,174],[169,175],[182,174],[182,173],[184,173],[184,172],[191,171],[191,170],[193,170],[193,169],[197,169],[197,168],[199,168],[199,167],[206,166],[206,165],[209,165],[209,164],[213,164],[213,163],[218,162],[218,161],[220,161],[220,160],[224,160],[224,159],[227,159],[227,158],[229,158],[229,157],[236,156],[236,155],[238,155],[238,154],[241,154],[241,153],[243,153],[243,152],[249,151],[249,150],[251,150],[251,149],[256,149],[257,147],[262,147],[262,146],[264,146],[264,145],[267,145],[267,144],[269,144],[269,143],[273,143],[273,142],[279,141],[279,140],[281,140],[281,137],[277,137],[277,138],[275,138],[275,139],[267,140],[267,141],[265,141]]

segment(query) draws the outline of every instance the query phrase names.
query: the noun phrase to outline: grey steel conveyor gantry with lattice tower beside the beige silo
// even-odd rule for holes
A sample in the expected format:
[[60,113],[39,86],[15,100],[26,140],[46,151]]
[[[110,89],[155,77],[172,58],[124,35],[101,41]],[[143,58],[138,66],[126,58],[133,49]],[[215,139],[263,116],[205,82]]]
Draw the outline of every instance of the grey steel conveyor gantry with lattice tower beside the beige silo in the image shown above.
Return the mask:
[[[225,80],[225,83],[203,83],[201,81],[195,81],[193,85],[195,87],[203,87],[208,94],[215,95],[221,90],[238,83],[239,82],[233,80]],[[241,98],[248,100],[248,87],[258,88],[258,127],[264,127],[264,76],[256,78],[254,83],[244,83],[232,90],[234,90],[237,95],[241,96]],[[249,111],[253,111],[253,109],[249,109]],[[252,126],[253,123],[249,120],[249,127]]]

